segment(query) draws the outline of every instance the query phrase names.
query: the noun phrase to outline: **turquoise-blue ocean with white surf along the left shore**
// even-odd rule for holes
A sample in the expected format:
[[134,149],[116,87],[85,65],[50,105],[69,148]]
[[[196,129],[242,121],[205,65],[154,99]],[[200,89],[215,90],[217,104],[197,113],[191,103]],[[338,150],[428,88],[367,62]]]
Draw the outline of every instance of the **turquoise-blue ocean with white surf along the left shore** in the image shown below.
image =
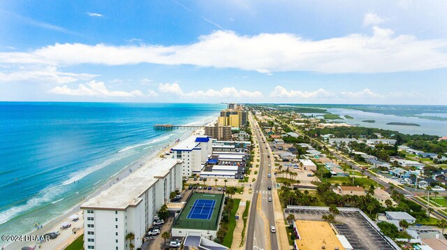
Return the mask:
[[0,102],[0,234],[27,233],[222,104]]

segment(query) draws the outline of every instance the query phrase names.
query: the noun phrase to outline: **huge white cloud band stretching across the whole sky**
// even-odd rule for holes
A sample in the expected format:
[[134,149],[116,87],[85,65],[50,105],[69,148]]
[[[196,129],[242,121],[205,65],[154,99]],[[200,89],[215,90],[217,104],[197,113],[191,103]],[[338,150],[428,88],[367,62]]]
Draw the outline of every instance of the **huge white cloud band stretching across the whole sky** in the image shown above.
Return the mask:
[[[377,23],[369,19],[367,24]],[[33,52],[0,52],[0,63],[49,65],[198,65],[256,70],[375,73],[447,68],[447,39],[419,40],[396,36],[391,29],[372,27],[372,35],[351,34],[324,40],[306,40],[289,33],[240,36],[216,31],[191,45],[55,44]],[[225,53],[222,53],[225,52]]]

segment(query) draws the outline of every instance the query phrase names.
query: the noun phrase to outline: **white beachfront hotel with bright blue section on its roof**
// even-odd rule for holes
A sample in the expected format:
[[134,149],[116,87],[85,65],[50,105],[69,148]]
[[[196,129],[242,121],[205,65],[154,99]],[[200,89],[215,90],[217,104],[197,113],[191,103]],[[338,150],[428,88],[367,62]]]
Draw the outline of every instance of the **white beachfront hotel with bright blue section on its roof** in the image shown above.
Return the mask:
[[209,136],[190,136],[171,150],[174,158],[183,161],[182,175],[200,174],[212,155],[212,138]]

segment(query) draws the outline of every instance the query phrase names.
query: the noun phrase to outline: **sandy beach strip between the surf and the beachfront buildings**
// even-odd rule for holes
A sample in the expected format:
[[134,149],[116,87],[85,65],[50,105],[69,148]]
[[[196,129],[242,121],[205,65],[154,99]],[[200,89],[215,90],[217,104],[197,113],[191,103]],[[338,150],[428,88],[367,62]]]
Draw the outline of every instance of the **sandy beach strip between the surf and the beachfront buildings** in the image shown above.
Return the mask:
[[[193,136],[195,134],[203,134],[203,130],[194,130],[191,132],[188,136]],[[185,136],[186,138],[187,136]],[[103,185],[101,188],[97,189],[93,194],[90,194],[87,196],[85,200],[88,200],[91,197],[94,197],[101,192],[103,192],[105,189],[108,189],[108,187],[111,187],[115,183],[119,182],[119,180],[122,180],[123,178],[126,178],[128,175],[133,173],[133,170],[138,169],[142,164],[145,162],[150,161],[151,159],[154,159],[154,157],[160,157],[161,154],[164,154],[170,150],[173,146],[175,146],[180,141],[171,141],[170,143],[163,144],[162,148],[159,150],[155,150],[153,152],[147,153],[144,157],[141,157],[140,159],[136,160],[132,164],[129,164],[129,166],[126,166],[124,169],[119,171],[116,175],[112,175],[108,179],[108,181]],[[6,250],[17,250],[21,249],[22,247],[34,247],[36,246],[36,249],[65,249],[71,242],[73,242],[79,235],[82,235],[83,233],[83,215],[82,210],[80,210],[80,205],[84,201],[80,202],[78,205],[75,205],[71,210],[68,210],[61,216],[57,217],[56,219],[53,219],[52,221],[47,222],[43,225],[42,228],[39,228],[31,233],[28,233],[27,235],[44,235],[45,233],[50,233],[54,231],[59,231],[60,235],[54,239],[50,240],[48,242],[10,242],[5,247]],[[71,221],[68,219],[72,214],[78,214],[79,220],[78,221]],[[64,222],[71,223],[71,228],[68,229],[61,229],[61,224]],[[77,233],[73,233],[73,228],[77,228]]]

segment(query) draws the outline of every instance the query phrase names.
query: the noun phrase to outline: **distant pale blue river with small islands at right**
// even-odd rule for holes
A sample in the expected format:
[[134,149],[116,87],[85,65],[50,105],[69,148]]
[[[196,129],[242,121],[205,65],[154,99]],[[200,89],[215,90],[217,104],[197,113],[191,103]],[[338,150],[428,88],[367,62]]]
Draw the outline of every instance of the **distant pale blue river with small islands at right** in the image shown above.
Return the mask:
[[[339,116],[349,115],[353,119],[337,120],[362,127],[377,127],[384,130],[397,130],[404,134],[432,134],[438,136],[447,135],[447,120],[428,120],[417,117],[405,117],[365,112],[356,109],[329,108],[328,112]],[[375,120],[375,123],[365,123],[362,120]],[[416,123],[418,126],[387,125],[386,123]]]

